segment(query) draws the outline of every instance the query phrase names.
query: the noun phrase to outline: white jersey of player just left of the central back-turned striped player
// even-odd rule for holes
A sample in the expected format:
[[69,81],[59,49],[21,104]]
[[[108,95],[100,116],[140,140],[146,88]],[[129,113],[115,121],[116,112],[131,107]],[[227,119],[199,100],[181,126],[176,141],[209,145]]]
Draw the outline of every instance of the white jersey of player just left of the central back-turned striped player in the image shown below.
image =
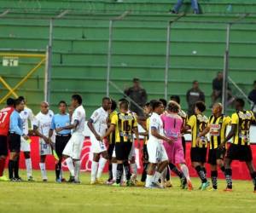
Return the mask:
[[92,125],[94,130],[96,130],[96,133],[101,136],[105,135],[106,130],[108,129],[108,112],[105,111],[103,107],[100,107],[92,113],[90,119],[92,120]]

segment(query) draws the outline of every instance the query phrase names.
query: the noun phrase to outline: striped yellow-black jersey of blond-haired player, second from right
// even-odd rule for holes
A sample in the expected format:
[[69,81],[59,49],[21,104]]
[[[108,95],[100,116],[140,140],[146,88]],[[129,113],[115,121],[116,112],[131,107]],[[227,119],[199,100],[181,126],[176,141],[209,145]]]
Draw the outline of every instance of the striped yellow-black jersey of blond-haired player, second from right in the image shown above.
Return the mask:
[[221,115],[216,118],[213,115],[209,118],[208,127],[210,128],[210,149],[216,149],[221,141],[224,141],[228,125],[231,124],[229,116]]

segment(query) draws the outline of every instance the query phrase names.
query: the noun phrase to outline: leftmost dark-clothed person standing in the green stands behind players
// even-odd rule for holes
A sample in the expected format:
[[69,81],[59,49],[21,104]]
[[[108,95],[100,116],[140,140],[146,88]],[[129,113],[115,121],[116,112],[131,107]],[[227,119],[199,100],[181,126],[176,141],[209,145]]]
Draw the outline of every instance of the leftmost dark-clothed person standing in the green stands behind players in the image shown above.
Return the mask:
[[[125,95],[136,102],[139,107],[144,107],[147,102],[147,92],[140,86],[140,80],[138,78],[133,79],[133,86],[129,89],[125,89]],[[131,102],[130,109],[132,112],[136,112],[138,116],[143,116],[143,109],[137,107]]]

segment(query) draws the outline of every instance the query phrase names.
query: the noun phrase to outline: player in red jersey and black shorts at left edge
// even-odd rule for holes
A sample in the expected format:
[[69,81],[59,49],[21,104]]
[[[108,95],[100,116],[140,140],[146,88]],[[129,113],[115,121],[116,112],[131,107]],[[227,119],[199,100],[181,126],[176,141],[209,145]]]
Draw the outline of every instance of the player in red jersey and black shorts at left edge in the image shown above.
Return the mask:
[[0,111],[0,181],[9,181],[6,176],[3,176],[3,170],[8,156],[9,118],[15,110],[15,100],[9,98],[6,105],[7,107]]

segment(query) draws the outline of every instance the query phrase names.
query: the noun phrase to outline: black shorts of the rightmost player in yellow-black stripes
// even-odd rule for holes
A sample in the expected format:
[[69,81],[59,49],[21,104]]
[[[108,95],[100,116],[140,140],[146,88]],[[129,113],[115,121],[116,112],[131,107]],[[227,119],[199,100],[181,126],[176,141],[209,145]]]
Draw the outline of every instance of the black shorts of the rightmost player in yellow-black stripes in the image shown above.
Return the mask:
[[227,151],[226,158],[231,160],[240,160],[240,161],[252,161],[252,149],[250,146],[241,146],[236,144],[230,144],[230,147]]

